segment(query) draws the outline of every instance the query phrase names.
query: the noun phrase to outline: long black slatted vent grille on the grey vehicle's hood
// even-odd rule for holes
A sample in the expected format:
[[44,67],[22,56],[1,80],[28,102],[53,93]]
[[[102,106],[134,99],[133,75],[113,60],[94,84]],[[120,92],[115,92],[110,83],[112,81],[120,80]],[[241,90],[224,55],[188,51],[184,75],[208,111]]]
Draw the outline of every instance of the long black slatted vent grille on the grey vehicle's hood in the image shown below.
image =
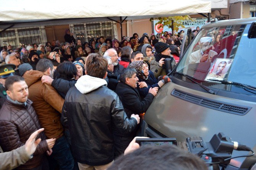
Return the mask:
[[208,107],[211,109],[228,112],[232,114],[245,115],[251,109],[251,107],[248,107],[248,106],[238,106],[230,103],[224,103],[222,101],[215,101],[209,98],[192,95],[184,91],[179,91],[177,89],[174,89],[171,95],[179,99],[182,99],[194,104],[198,104],[200,106],[204,106],[204,107]]

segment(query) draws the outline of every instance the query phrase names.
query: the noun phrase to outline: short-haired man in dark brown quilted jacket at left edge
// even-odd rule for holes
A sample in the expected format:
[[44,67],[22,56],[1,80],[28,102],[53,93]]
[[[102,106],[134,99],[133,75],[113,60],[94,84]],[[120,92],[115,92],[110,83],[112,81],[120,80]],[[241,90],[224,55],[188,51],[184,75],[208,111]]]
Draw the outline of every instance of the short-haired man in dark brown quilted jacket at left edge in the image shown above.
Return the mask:
[[[5,87],[7,96],[0,109],[0,144],[3,151],[8,152],[23,146],[29,136],[41,126],[31,106],[32,101],[28,99],[28,85],[23,77],[8,77]],[[48,150],[52,152],[55,139],[45,140],[44,133],[41,133],[40,138],[42,142],[37,147],[34,157],[19,166],[19,170],[40,170],[44,167],[44,153]]]

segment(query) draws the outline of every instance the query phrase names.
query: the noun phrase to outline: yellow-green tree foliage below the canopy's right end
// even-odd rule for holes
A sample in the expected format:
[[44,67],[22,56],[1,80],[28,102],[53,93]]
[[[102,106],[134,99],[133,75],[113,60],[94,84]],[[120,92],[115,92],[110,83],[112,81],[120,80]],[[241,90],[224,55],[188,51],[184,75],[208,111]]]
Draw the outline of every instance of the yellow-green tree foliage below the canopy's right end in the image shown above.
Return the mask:
[[[183,27],[185,28],[185,26],[182,24],[181,20],[191,20],[194,21],[194,19],[192,19],[189,15],[185,15],[185,16],[170,16],[170,17],[159,17],[157,18],[159,20],[159,22],[156,23],[160,25],[160,27],[164,27],[164,26],[168,26],[169,28],[172,29],[172,34],[174,34],[174,32],[178,32],[179,27]],[[154,18],[150,18],[150,21],[153,21]],[[159,28],[160,28],[159,27]]]

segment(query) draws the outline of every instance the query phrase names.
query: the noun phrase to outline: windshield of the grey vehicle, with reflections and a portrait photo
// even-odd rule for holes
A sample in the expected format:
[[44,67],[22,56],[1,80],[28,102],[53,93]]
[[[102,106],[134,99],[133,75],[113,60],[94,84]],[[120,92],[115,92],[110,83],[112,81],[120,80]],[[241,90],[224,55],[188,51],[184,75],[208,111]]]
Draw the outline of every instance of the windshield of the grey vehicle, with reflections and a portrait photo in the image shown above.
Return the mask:
[[[203,28],[188,47],[176,71],[198,79],[203,85],[223,90],[230,88],[221,81],[255,87],[256,38],[248,38],[250,26]],[[186,81],[184,77],[182,79]]]

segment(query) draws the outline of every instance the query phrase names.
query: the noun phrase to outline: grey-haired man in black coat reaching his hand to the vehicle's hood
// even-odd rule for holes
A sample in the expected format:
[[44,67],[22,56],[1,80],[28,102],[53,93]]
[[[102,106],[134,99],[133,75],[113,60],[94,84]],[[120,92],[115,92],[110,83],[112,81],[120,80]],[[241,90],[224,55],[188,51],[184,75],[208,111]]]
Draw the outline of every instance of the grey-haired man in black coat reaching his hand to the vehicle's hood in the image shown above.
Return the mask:
[[[120,75],[120,82],[117,84],[115,92],[122,101],[123,107],[128,117],[131,114],[143,114],[147,111],[148,107],[156,96],[158,87],[150,88],[149,93],[141,100],[137,90],[138,77],[136,70],[133,68],[125,68]],[[138,130],[138,127],[137,129]],[[131,134],[115,133],[115,157],[123,154],[129,143],[136,135],[136,130]],[[117,144],[116,144],[117,143]]]

